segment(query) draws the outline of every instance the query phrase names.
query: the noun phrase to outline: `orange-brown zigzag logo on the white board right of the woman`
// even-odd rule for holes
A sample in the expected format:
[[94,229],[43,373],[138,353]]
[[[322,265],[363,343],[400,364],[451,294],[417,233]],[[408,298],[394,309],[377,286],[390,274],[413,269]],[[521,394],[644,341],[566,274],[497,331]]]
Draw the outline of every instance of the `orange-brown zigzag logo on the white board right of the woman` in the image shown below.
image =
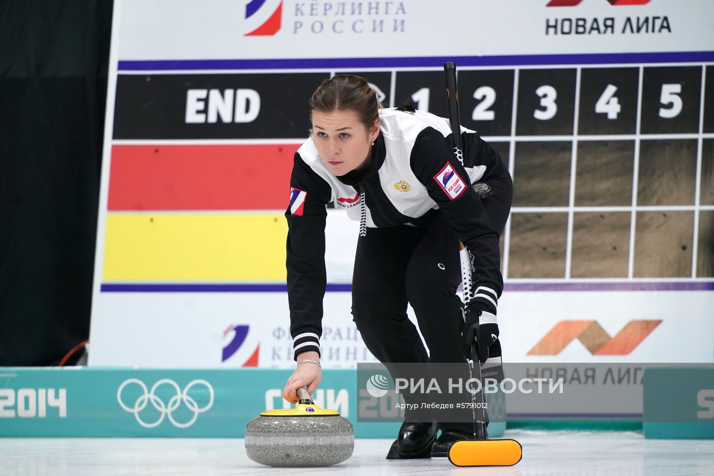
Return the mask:
[[528,355],[558,355],[573,339],[578,339],[593,355],[627,355],[661,322],[630,321],[615,337],[610,337],[597,321],[560,321],[528,351]]

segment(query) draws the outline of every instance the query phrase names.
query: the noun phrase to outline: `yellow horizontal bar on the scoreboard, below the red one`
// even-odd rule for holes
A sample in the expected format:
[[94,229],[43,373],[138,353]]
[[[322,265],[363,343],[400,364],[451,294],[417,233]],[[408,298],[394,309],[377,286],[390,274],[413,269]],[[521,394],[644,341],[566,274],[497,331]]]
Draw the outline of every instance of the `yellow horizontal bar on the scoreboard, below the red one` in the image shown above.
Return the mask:
[[282,214],[109,214],[104,281],[284,281]]

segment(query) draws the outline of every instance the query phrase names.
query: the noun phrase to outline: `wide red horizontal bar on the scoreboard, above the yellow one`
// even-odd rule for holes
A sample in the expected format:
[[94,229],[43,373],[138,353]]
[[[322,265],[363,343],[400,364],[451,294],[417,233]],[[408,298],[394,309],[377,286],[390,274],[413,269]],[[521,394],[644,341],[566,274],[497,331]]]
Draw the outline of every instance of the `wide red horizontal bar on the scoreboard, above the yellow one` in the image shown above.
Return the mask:
[[300,144],[115,145],[109,210],[284,210]]

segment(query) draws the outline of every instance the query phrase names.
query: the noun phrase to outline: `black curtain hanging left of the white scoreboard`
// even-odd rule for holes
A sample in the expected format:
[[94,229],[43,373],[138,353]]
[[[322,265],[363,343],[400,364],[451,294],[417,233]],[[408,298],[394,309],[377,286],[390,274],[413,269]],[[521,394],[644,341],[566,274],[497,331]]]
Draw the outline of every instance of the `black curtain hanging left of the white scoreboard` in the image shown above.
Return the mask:
[[89,337],[111,0],[0,0],[0,365]]

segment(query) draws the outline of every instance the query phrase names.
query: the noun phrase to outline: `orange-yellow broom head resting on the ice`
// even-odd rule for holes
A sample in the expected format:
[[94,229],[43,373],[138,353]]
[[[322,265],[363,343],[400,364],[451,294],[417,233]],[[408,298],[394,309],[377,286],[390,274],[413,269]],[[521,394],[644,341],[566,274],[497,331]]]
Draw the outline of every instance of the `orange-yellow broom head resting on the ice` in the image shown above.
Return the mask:
[[513,466],[522,456],[516,440],[461,440],[448,452],[448,460],[456,466]]

